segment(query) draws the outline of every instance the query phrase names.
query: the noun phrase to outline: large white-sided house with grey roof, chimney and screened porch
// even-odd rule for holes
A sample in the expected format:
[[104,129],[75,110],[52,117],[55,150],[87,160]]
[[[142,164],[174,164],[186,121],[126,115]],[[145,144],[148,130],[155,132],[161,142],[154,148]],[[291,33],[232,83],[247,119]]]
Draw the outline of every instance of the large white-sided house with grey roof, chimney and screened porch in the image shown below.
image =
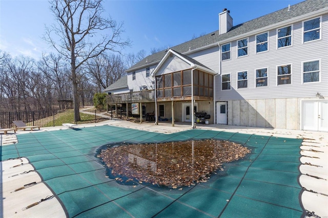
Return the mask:
[[219,30],[146,57],[127,70],[127,84],[130,100],[108,103],[134,104],[156,123],[328,131],[328,1],[236,26],[223,9]]

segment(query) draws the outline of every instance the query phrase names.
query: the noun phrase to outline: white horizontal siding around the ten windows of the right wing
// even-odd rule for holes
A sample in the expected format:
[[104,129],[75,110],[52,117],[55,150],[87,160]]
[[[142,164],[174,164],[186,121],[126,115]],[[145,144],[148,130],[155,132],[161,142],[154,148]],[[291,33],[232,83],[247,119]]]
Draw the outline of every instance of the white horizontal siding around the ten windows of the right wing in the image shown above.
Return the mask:
[[[231,60],[221,62],[221,74],[231,73],[231,90],[221,91],[216,76],[216,101],[232,99],[310,98],[328,96],[328,15],[322,16],[321,40],[302,43],[302,21],[293,25],[292,46],[277,49],[276,29],[269,32],[269,51],[255,53],[255,35],[249,36],[249,55],[237,57],[231,43]],[[286,26],[286,25],[284,25]],[[302,83],[302,61],[320,60],[321,81]],[[291,64],[292,84],[277,85],[277,66]],[[268,68],[268,86],[255,88],[255,69]],[[237,72],[248,71],[248,88],[237,89]]]

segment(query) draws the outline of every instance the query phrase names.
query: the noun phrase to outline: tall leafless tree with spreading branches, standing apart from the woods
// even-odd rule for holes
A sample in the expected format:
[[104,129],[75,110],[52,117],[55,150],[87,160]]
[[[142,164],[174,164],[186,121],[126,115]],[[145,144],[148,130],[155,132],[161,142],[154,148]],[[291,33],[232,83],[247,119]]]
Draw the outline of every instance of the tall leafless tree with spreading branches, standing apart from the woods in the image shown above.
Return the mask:
[[[57,24],[46,27],[44,39],[70,60],[73,83],[74,121],[80,120],[76,72],[87,60],[106,50],[120,52],[130,46],[122,40],[122,24],[102,16],[102,0],[51,0]],[[111,32],[111,34],[108,34]]]

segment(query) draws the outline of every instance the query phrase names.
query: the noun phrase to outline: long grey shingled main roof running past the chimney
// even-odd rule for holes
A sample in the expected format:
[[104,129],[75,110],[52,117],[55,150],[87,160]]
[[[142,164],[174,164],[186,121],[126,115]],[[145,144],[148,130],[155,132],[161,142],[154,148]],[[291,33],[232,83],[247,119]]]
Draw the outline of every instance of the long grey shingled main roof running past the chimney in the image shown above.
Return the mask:
[[[219,31],[217,30],[207,35],[203,35],[190,41],[181,43],[180,45],[174,46],[171,49],[179,53],[192,53],[201,48],[217,46],[219,43],[224,42],[227,43],[229,41],[235,40],[237,37],[242,37],[243,35],[255,34],[256,31],[268,31],[278,25],[282,26],[283,23],[287,21],[296,21],[297,18],[304,19],[303,16],[305,15],[316,16],[320,13],[327,13],[327,11],[327,0],[306,0],[291,6],[290,10],[288,10],[288,7],[286,7],[279,11],[236,25],[232,27],[227,33],[219,35]],[[167,51],[168,50],[164,50],[147,56],[129,68],[127,72],[159,63]]]

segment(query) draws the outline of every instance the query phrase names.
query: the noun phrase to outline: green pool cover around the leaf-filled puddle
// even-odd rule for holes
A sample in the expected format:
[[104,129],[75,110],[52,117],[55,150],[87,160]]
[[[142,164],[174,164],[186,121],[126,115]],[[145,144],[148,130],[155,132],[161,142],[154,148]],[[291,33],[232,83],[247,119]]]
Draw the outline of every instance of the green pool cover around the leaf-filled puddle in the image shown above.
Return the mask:
[[[69,217],[300,217],[301,139],[191,129],[160,134],[95,126],[17,135],[1,160],[26,157],[63,204]],[[106,175],[97,149],[110,143],[161,143],[217,139],[252,149],[206,183],[182,190]]]

